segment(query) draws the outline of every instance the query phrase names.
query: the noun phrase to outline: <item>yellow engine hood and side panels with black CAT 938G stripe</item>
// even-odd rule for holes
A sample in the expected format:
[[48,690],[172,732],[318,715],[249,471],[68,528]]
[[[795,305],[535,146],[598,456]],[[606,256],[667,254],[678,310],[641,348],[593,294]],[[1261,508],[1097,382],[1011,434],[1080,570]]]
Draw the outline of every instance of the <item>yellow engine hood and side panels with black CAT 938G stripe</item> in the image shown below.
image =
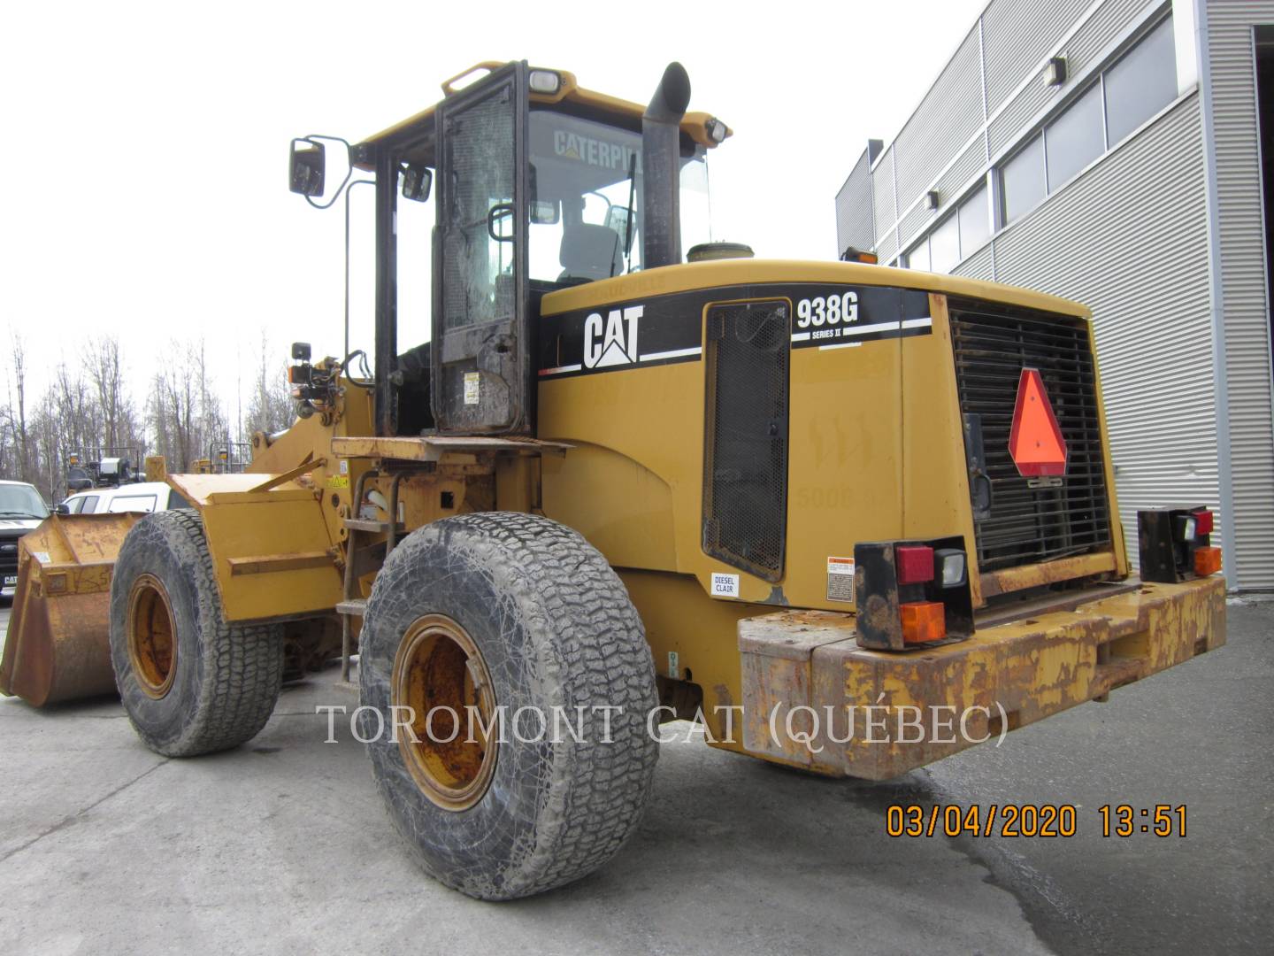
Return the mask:
[[[911,296],[913,317],[896,324],[911,328],[837,334],[824,345],[795,339],[803,324],[812,334],[822,328],[831,335],[828,322],[803,322],[803,297],[828,300],[857,289],[865,306],[870,288]],[[540,362],[538,433],[573,446],[543,465],[544,514],[578,529],[615,566],[646,623],[656,672],[699,684],[706,707],[743,699],[735,636],[740,619],[766,608],[856,611],[852,599],[833,594],[828,569],[833,560],[852,560],[857,542],[962,538],[976,605],[986,600],[984,581],[991,594],[1000,594],[1126,574],[1117,521],[1108,546],[1094,553],[980,572],[947,308],[950,296],[1084,322],[1089,317],[1078,303],[1026,289],[847,263],[691,264],[544,297],[540,340],[548,343],[548,356]],[[785,554],[781,571],[767,576],[749,574],[705,548],[710,315],[748,302],[782,303],[794,333],[786,370]],[[666,353],[656,352],[647,365],[642,339],[634,344],[624,338],[632,329],[626,310],[637,307],[640,335],[657,337],[660,321],[682,322],[692,326],[683,339],[655,344],[679,344],[683,348],[674,351],[680,352],[698,345],[699,352],[669,363],[659,358]],[[673,312],[678,315],[670,320]],[[577,365],[571,343],[581,316],[583,361]],[[861,320],[855,333],[861,322],[873,321],[866,314],[855,320]],[[612,340],[632,348],[612,353]],[[1105,449],[1105,419],[1102,430]],[[1106,505],[1113,516],[1108,455],[1105,474]],[[725,593],[717,585],[721,575],[729,581]],[[712,713],[706,718],[713,734],[724,737],[722,718]]]

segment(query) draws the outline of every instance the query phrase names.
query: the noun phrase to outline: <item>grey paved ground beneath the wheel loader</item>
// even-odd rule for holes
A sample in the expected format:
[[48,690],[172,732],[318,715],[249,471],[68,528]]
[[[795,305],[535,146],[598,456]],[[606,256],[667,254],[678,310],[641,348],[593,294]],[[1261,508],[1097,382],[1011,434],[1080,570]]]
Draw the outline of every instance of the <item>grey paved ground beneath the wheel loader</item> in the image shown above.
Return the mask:
[[[8,608],[0,608],[0,628]],[[678,739],[629,845],[508,904],[397,844],[335,672],[248,744],[167,760],[117,701],[0,701],[6,953],[1198,953],[1274,948],[1274,604],[1229,644],[887,783]],[[673,725],[683,730],[688,725]],[[889,804],[1077,804],[1073,837],[891,837]],[[1186,836],[1103,837],[1098,807],[1186,804]]]

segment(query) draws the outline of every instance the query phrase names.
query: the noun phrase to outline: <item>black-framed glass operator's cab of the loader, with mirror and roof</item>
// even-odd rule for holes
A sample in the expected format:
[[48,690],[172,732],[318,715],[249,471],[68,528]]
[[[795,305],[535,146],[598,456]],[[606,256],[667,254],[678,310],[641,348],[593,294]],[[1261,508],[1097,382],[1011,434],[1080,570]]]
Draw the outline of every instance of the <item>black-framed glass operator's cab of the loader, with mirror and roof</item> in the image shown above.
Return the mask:
[[[443,435],[533,432],[540,298],[680,261],[683,189],[684,232],[707,238],[705,153],[727,130],[685,115],[680,66],[645,110],[580,89],[567,73],[479,69],[479,80],[447,82],[436,107],[352,149],[354,164],[376,173],[378,436],[417,435],[422,423]],[[294,150],[296,191],[321,189],[321,161],[317,175],[313,167],[312,150]],[[420,376],[420,347],[397,352],[397,273],[414,266],[399,260],[394,223],[400,190],[424,199],[431,178],[432,335]]]

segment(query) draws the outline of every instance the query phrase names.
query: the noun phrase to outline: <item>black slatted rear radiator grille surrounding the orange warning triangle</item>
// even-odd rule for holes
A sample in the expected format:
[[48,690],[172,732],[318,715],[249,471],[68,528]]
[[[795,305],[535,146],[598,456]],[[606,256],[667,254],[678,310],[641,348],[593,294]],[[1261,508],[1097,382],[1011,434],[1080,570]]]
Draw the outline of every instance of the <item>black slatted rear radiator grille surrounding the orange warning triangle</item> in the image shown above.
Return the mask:
[[[961,412],[981,419],[991,482],[990,510],[973,523],[978,566],[994,571],[1106,549],[1110,511],[1088,324],[954,298],[949,311]],[[1066,442],[1061,487],[1032,488],[1009,455],[1023,368],[1040,370]]]

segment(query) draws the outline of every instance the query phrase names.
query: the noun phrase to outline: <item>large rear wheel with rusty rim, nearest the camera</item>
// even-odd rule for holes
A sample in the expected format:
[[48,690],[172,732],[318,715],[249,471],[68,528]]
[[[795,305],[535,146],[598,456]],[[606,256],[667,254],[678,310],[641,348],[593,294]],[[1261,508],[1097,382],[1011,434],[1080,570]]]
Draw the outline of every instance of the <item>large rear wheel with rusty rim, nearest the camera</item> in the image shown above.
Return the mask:
[[[390,817],[447,886],[488,900],[530,896],[592,872],[636,830],[659,755],[646,729],[657,702],[654,663],[619,577],[569,528],[479,512],[413,532],[372,589],[359,683],[359,733],[372,738]],[[419,746],[377,735],[371,709],[390,728],[391,705],[409,700],[426,709],[483,701],[488,714],[503,711],[505,732],[468,753],[424,733]],[[600,706],[619,709],[609,742],[604,711],[592,710]],[[582,742],[564,725],[517,739],[538,735],[530,715],[515,733],[521,707],[545,714],[549,728],[554,709],[577,728],[583,707]],[[424,729],[423,718],[413,729]],[[405,728],[397,733],[406,739]]]

